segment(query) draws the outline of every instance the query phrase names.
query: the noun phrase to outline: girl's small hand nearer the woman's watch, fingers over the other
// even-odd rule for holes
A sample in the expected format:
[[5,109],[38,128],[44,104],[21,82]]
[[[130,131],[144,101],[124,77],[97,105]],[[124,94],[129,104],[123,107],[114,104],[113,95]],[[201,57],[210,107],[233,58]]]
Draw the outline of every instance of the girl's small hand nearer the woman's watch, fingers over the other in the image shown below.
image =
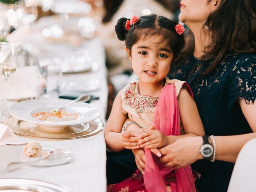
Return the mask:
[[168,145],[168,138],[157,130],[155,126],[151,126],[145,133],[138,136],[138,143],[141,148],[162,148]]

